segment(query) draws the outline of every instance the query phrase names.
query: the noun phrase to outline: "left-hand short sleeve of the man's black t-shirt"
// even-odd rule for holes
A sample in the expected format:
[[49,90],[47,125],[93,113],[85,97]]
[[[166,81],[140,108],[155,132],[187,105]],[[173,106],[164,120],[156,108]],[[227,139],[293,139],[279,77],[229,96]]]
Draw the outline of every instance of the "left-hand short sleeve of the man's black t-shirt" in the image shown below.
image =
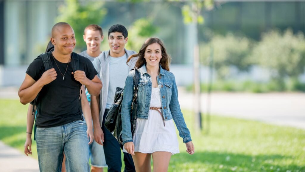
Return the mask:
[[27,73],[32,77],[35,81],[39,80],[42,73],[45,71],[45,67],[40,57],[34,59],[34,61],[27,68]]

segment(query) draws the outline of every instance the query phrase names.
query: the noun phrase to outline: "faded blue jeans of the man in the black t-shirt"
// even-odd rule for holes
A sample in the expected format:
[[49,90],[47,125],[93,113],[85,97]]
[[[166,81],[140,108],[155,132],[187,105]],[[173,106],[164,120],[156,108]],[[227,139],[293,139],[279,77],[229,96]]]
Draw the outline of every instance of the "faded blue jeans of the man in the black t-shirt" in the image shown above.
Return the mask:
[[67,172],[89,172],[88,138],[83,121],[50,128],[37,127],[36,144],[40,171],[60,172],[65,151]]

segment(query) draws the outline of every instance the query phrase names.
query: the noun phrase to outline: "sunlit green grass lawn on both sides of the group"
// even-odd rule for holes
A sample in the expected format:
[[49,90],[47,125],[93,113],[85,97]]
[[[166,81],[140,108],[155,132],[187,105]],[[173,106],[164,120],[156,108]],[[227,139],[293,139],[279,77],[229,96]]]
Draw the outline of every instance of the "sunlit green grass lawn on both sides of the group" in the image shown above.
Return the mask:
[[[0,100],[0,140],[23,152],[27,105]],[[210,132],[194,132],[192,113],[184,110],[195,154],[188,155],[179,137],[180,152],[168,171],[305,171],[305,130],[262,122],[211,116]],[[32,157],[37,159],[33,141]]]

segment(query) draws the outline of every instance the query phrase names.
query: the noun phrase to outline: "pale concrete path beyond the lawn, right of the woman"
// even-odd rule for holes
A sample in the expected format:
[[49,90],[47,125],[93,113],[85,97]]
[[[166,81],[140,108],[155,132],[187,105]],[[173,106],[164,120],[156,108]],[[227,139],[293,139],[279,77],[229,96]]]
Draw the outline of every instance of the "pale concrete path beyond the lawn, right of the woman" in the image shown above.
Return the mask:
[[[201,95],[206,113],[207,94]],[[194,108],[194,96],[179,89],[182,109]],[[211,114],[259,120],[305,129],[305,93],[212,93]]]

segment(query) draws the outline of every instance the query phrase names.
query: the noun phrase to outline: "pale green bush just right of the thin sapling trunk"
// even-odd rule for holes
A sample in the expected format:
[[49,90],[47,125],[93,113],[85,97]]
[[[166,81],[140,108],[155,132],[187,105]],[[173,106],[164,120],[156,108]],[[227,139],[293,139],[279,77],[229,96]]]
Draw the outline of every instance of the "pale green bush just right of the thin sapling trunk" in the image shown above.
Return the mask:
[[[213,54],[213,65],[220,79],[228,77],[230,67],[234,66],[240,71],[248,71],[253,60],[249,58],[252,41],[246,37],[228,33],[226,36],[215,35],[209,43],[201,44],[200,57],[203,65]],[[211,53],[213,51],[213,53]]]

